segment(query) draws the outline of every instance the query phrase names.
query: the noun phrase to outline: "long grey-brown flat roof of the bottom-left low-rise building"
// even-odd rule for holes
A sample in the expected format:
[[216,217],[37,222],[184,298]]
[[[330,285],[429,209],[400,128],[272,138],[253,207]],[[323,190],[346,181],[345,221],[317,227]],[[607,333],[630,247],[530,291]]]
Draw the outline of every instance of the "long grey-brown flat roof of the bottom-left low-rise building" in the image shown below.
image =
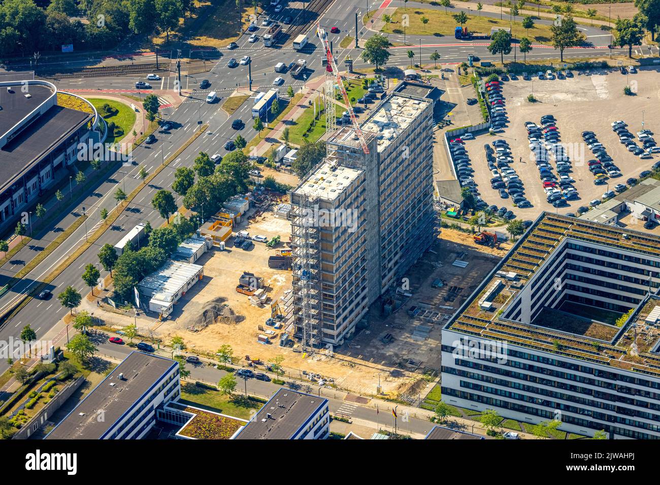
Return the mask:
[[[77,407],[46,436],[48,440],[100,440],[151,387],[179,363],[131,352]],[[119,374],[124,379],[119,380]],[[103,412],[104,420],[99,420]]]

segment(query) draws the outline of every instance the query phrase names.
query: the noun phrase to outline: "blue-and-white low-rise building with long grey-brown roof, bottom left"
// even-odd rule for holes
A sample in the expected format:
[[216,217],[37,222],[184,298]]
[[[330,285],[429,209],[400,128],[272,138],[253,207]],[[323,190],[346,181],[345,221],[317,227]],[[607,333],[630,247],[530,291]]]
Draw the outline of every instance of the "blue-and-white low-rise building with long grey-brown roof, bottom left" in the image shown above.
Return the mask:
[[134,351],[46,436],[47,440],[139,440],[156,408],[181,394],[179,362]]

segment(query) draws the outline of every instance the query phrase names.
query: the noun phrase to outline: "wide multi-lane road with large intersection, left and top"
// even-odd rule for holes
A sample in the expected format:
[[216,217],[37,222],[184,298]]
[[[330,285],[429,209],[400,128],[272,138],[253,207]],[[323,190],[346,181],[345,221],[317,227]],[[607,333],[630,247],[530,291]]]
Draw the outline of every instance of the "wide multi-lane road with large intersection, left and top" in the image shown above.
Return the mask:
[[[327,11],[320,17],[319,22],[328,32],[329,40],[333,42],[335,57],[337,59],[343,59],[348,53],[351,53],[354,59],[358,59],[359,52],[354,49],[354,43],[351,43],[346,49],[339,49],[339,42],[344,36],[356,35],[356,13],[358,13],[358,18],[361,18],[366,10],[376,11],[380,5],[380,1],[365,3],[364,0],[335,0],[329,5]],[[412,1],[407,3],[407,7],[409,8],[415,6],[432,8],[426,3],[417,4]],[[271,14],[271,18],[277,21],[285,16],[300,18],[298,15],[300,15],[301,10],[302,3],[292,2],[279,14],[272,12],[267,14]],[[262,14],[261,17],[257,18],[259,25],[267,14]],[[482,14],[486,15],[487,13]],[[307,13],[307,15],[311,15],[311,13]],[[495,14],[490,15],[494,16]],[[296,22],[298,20],[294,20],[294,23]],[[537,22],[546,21],[538,20]],[[329,29],[333,26],[339,28],[339,34],[331,34],[329,32]],[[583,49],[567,49],[564,57],[592,57],[602,56],[606,52],[609,53],[609,49],[607,49],[609,35],[603,36],[603,31],[596,28],[586,26],[580,26],[580,28],[585,32],[587,40],[592,45]],[[253,92],[255,94],[259,90],[273,88],[273,80],[277,76],[284,77],[284,84],[279,86],[282,94],[286,93],[288,86],[293,86],[296,92],[302,87],[305,80],[294,79],[288,74],[274,72],[273,68],[279,62],[288,64],[298,58],[304,58],[308,65],[308,70],[306,71],[307,79],[322,74],[322,49],[319,49],[319,43],[314,40],[314,27],[308,32],[312,42],[302,52],[292,49],[290,46],[291,39],[288,39],[284,45],[265,47],[261,42],[263,32],[263,28],[257,32],[259,41],[256,43],[250,43],[248,39],[251,33],[245,32],[237,41],[238,47],[236,49],[220,49],[219,58],[209,61],[213,63],[210,72],[184,76],[182,78],[182,89],[191,91],[191,95],[176,109],[172,107],[162,109],[162,117],[171,121],[174,127],[169,132],[158,132],[156,134],[158,140],[154,144],[139,146],[133,152],[133,157],[139,162],[139,165],[119,167],[108,179],[101,181],[90,193],[81,194],[79,200],[73,204],[73,208],[67,214],[63,214],[61,221],[58,221],[52,230],[33,239],[26,248],[23,248],[10,262],[7,262],[7,264],[0,268],[0,278],[6,279],[15,275],[22,268],[22,264],[32,260],[40,250],[48,246],[63,228],[68,227],[76,217],[80,217],[83,212],[82,208],[85,208],[84,212],[88,215],[86,223],[74,231],[67,241],[49,254],[44,261],[38,264],[34,270],[30,271],[22,281],[17,283],[9,293],[0,299],[0,312],[9,308],[12,302],[15,302],[20,295],[30,291],[38,281],[42,281],[67,255],[71,254],[75,248],[84,242],[86,236],[90,235],[103,223],[100,220],[100,211],[102,208],[107,208],[108,210],[114,208],[116,202],[114,201],[113,194],[117,190],[117,187],[121,186],[126,193],[130,193],[141,183],[141,179],[138,176],[140,167],[145,167],[150,172],[153,171],[162,163],[162,160],[166,160],[174,154],[201,124],[206,123],[209,125],[206,132],[202,136],[199,136],[191,146],[186,148],[180,157],[160,172],[149,186],[143,188],[131,204],[128,204],[126,210],[123,211],[116,223],[52,282],[49,289],[54,295],[57,295],[67,285],[73,285],[81,293],[86,293],[87,289],[84,287],[81,279],[83,268],[90,262],[94,264],[98,262],[96,254],[98,254],[98,250],[103,244],[117,243],[125,235],[125,232],[137,223],[149,221],[152,227],[157,227],[163,222],[158,212],[151,207],[150,201],[156,190],[160,188],[170,189],[174,180],[173,173],[178,167],[191,167],[193,160],[200,151],[205,151],[210,155],[215,153],[226,154],[226,150],[222,148],[224,142],[235,138],[239,132],[247,140],[251,140],[257,136],[257,133],[252,128],[252,103],[250,100],[246,101],[231,116],[228,116],[220,109],[222,100],[218,103],[205,103],[205,98],[209,91],[216,91],[218,96],[226,98],[226,96],[229,96],[236,89],[237,85],[246,86],[248,83],[248,67],[238,66],[230,68],[227,65],[230,58],[234,57],[238,60],[244,55],[251,57],[251,75]],[[364,26],[358,26],[358,37],[360,39],[368,38],[375,33]],[[457,41],[453,38],[435,38],[433,36],[414,37],[414,40],[411,40],[408,36],[407,42],[415,45],[417,49],[422,49],[422,59],[428,57],[435,50],[438,50],[442,55],[442,63],[459,63],[465,61],[469,53],[478,55],[483,60],[499,59],[499,55],[490,55],[486,42]],[[392,42],[403,42],[403,36],[391,35],[389,38]],[[409,63],[406,53],[409,48],[409,46],[393,47],[388,65],[405,67]],[[622,51],[625,51],[625,49],[622,49]],[[617,52],[618,49],[615,49],[615,53]],[[558,51],[548,47],[537,47],[527,57],[530,59],[556,59],[558,57]],[[512,55],[508,56],[508,58],[512,59]],[[356,61],[356,68],[359,69],[363,66],[363,61]],[[113,92],[115,90],[134,92],[135,88],[133,88],[133,85],[138,79],[143,78],[139,76],[63,78],[55,82],[58,88],[63,91],[77,92],[78,90],[94,89],[99,90],[100,93]],[[206,90],[199,89],[199,83],[203,79],[207,79],[211,83],[211,86]],[[158,94],[164,94],[166,90],[176,87],[174,81],[174,76],[164,76],[161,81],[150,82],[150,84],[152,84]],[[238,131],[231,128],[232,121],[235,119],[241,119],[244,122],[243,127]],[[76,197],[75,192],[73,197]],[[27,324],[30,324],[36,330],[38,338],[43,337],[49,329],[57,324],[65,311],[54,297],[51,300],[30,301],[11,321],[0,329],[0,350],[4,345],[7,345],[9,337],[17,338],[20,334],[20,329]],[[7,364],[5,362],[0,362],[0,371],[6,367]]]

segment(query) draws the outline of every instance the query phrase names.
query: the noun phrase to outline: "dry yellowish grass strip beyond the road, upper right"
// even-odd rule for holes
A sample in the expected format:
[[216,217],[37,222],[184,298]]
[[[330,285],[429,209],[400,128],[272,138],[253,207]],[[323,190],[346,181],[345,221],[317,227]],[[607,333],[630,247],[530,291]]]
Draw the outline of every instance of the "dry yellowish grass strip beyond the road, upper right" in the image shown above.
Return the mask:
[[[467,13],[467,12],[466,12]],[[441,10],[430,9],[397,9],[392,15],[392,21],[383,26],[382,32],[388,34],[403,34],[401,27],[401,16],[407,14],[409,16],[410,26],[406,28],[406,33],[409,36],[452,36],[456,27],[456,20],[453,18],[453,13]],[[422,23],[422,17],[426,17],[429,21],[426,24]],[[500,20],[499,18],[487,16],[475,16],[468,13],[468,20],[465,26],[470,32],[478,32],[480,34],[490,34],[490,29],[493,27],[511,27],[509,18],[505,17]],[[512,36],[515,39],[527,37],[532,43],[545,43],[550,44],[550,26],[535,24],[529,29],[529,34],[521,22],[513,22]],[[415,52],[415,54],[417,54]],[[418,63],[419,59],[413,59],[414,63]]]

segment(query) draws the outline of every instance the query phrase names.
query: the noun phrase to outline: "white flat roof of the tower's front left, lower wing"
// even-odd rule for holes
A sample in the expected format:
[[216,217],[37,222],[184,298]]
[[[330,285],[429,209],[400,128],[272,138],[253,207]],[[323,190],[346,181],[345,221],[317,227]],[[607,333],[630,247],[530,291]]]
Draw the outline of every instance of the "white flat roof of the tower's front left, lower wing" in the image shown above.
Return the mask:
[[336,163],[333,159],[325,158],[312,173],[300,182],[300,185],[294,190],[294,194],[335,200],[363,172],[362,169],[346,167]]

